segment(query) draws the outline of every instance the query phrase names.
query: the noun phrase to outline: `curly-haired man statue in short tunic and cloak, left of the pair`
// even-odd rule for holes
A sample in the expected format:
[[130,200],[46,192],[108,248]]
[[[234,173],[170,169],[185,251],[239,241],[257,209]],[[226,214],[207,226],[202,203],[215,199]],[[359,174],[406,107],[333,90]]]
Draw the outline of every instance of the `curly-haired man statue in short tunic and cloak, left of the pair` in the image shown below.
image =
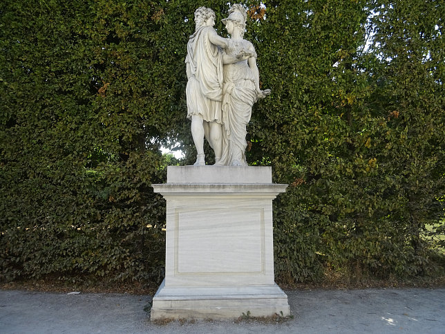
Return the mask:
[[215,13],[200,7],[195,11],[196,30],[187,44],[187,118],[191,118],[191,134],[198,155],[194,165],[205,165],[204,137],[215,152],[215,161],[221,157],[223,116],[223,55],[220,48],[229,45],[218,36]]

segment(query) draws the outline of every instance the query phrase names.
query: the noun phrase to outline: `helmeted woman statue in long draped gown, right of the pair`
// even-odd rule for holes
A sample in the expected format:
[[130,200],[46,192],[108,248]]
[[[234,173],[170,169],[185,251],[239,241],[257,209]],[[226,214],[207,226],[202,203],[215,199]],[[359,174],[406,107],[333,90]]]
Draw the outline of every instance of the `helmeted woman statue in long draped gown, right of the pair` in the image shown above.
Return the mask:
[[218,165],[247,165],[246,127],[252,106],[270,94],[269,89],[260,89],[255,48],[243,39],[245,22],[246,11],[241,5],[232,6],[229,17],[223,19],[231,38],[223,53],[223,154]]

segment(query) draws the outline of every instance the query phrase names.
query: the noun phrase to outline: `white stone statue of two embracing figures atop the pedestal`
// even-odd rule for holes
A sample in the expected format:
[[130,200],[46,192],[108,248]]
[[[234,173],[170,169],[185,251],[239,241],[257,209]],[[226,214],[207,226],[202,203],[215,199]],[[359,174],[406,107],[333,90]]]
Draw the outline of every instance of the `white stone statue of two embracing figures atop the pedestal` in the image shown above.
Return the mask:
[[230,38],[218,36],[215,13],[195,11],[196,30],[187,44],[187,117],[196,146],[196,166],[205,165],[204,138],[215,152],[215,165],[245,166],[246,127],[252,106],[270,90],[260,89],[256,52],[243,39],[246,10],[234,5],[223,19]]

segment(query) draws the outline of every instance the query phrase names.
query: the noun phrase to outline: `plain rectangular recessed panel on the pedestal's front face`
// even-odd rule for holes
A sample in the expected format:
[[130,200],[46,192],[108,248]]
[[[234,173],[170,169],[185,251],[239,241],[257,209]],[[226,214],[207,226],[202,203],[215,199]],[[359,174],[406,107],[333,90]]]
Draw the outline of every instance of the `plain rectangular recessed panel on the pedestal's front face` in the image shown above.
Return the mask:
[[175,276],[265,272],[263,209],[176,210]]

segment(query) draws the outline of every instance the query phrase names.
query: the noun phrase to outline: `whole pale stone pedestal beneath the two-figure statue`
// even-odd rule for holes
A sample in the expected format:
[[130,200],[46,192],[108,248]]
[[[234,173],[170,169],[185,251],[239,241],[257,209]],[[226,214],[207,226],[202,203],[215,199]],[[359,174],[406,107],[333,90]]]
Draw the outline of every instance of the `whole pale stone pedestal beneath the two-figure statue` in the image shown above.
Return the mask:
[[270,167],[170,166],[165,279],[151,319],[290,315],[274,282]]

